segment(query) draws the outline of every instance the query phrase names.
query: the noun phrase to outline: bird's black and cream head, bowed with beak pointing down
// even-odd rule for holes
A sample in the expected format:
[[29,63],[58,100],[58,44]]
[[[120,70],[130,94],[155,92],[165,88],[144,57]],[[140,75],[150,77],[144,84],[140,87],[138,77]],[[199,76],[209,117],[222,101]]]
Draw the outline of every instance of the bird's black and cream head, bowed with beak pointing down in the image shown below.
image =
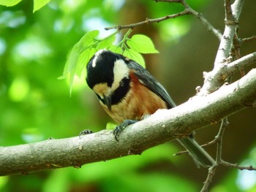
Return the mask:
[[[87,64],[86,82],[111,110],[129,89],[127,58],[110,50],[99,50]],[[126,93],[125,93],[126,92]]]

